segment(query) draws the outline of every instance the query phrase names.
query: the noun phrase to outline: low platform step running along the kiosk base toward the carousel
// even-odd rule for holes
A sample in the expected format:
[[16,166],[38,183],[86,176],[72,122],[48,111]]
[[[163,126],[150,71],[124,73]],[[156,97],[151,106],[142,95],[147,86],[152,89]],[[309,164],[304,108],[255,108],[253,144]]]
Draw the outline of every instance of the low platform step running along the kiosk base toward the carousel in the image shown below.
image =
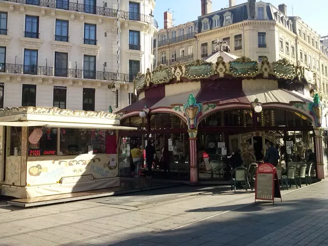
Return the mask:
[[161,189],[173,186],[181,186],[183,182],[158,180],[158,179],[134,179],[134,178],[120,178],[120,186],[107,189],[98,189],[84,192],[74,192],[67,194],[31,197],[31,198],[17,198],[7,201],[8,204],[18,207],[35,207],[54,203],[63,203],[70,201],[85,200],[97,197],[114,196],[120,194],[133,193],[138,191],[146,191],[152,189]]

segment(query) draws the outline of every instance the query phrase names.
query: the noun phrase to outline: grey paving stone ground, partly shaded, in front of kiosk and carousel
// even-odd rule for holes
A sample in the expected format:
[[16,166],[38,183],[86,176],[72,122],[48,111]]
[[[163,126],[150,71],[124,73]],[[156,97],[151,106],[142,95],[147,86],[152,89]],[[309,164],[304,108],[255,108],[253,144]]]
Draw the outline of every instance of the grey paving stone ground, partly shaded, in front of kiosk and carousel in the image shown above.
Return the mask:
[[229,187],[139,192],[113,204],[102,203],[111,197],[33,209],[0,203],[0,246],[328,245],[327,188],[324,180],[282,191],[275,204]]

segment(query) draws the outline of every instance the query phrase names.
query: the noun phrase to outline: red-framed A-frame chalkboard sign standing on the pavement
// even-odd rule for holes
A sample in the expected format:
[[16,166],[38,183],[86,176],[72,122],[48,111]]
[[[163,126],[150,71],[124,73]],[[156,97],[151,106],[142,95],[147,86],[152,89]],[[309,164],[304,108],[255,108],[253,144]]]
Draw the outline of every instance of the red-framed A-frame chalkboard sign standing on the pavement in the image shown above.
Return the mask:
[[271,200],[274,204],[274,198],[281,199],[277,170],[270,163],[262,163],[255,173],[255,202]]

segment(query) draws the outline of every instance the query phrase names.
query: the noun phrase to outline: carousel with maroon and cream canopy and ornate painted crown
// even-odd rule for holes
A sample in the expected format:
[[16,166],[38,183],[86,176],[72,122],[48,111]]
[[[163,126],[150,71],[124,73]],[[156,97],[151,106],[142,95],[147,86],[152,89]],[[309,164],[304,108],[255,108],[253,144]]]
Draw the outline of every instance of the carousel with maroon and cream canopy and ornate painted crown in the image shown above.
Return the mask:
[[[120,132],[120,175],[129,175],[131,146],[145,150],[151,143],[157,152],[154,176],[168,172],[166,178],[191,183],[228,181],[232,153],[239,149],[248,167],[263,159],[272,141],[279,165],[308,161],[312,150],[312,175],[327,177],[324,107],[310,67],[286,59],[270,63],[267,57],[260,64],[244,56],[225,61],[214,54],[185,66],[148,69],[134,85],[138,101],[118,112],[122,126],[138,129]],[[169,163],[160,161],[164,148]]]

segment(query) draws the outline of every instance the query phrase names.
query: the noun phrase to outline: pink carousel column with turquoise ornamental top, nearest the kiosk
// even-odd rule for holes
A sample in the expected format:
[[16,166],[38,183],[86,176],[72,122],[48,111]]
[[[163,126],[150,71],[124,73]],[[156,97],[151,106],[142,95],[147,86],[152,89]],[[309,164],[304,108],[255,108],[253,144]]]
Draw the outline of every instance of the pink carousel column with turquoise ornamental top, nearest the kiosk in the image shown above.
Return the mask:
[[198,165],[197,165],[197,132],[198,117],[201,115],[201,104],[196,103],[193,94],[189,95],[187,104],[183,105],[184,116],[187,118],[189,149],[190,149],[190,183],[198,183]]

